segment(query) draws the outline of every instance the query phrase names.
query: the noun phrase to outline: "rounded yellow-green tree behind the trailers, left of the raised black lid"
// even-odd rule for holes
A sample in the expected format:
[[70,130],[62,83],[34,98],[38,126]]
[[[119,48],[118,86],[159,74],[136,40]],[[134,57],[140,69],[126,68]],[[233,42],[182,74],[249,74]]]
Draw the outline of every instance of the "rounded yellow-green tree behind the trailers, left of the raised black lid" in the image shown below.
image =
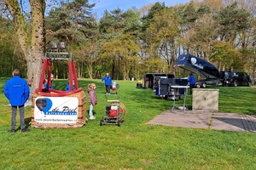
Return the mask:
[[176,41],[180,35],[178,26],[179,18],[172,8],[164,8],[154,15],[147,30],[151,59],[164,59],[171,69],[176,61]]

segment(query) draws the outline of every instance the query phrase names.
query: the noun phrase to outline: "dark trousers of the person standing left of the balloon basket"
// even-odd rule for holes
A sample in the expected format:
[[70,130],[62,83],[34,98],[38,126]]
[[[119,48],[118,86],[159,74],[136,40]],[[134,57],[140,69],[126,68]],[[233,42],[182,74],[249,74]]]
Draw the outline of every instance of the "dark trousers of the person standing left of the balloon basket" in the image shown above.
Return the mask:
[[17,107],[20,110],[20,129],[25,128],[24,105],[12,106],[12,130],[16,129]]

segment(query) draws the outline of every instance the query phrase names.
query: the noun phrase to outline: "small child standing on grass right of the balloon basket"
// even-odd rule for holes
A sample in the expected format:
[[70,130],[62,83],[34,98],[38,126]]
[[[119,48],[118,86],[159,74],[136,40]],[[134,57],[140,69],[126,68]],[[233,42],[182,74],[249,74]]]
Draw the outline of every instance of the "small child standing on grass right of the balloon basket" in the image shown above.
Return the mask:
[[97,95],[96,95],[95,89],[96,89],[95,83],[88,84],[87,92],[89,95],[89,105],[90,105],[89,119],[90,120],[96,119],[96,117],[93,116],[93,107],[97,104]]

